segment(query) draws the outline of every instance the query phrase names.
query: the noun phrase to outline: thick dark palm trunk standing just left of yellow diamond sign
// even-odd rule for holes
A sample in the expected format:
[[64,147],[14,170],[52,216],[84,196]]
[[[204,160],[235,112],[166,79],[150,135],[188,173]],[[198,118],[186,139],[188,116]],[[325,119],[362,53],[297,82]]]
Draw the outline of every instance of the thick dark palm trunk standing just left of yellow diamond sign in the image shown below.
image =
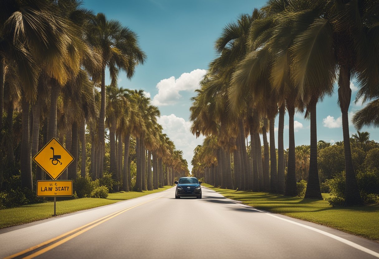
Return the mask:
[[33,190],[31,173],[31,147],[29,139],[29,103],[22,97],[22,137],[21,137],[21,188],[27,187]]

